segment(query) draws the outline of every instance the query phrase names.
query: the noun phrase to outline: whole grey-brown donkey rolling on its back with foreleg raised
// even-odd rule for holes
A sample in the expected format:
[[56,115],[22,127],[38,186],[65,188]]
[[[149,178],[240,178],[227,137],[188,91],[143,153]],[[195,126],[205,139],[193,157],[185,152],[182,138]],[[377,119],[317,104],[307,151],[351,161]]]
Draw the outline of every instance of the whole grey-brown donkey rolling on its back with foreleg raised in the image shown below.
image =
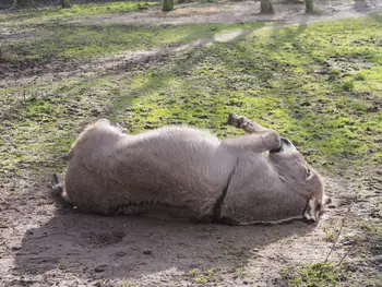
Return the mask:
[[324,183],[293,143],[246,117],[231,113],[228,124],[247,134],[219,141],[183,125],[130,135],[97,120],[71,146],[64,183],[52,190],[104,215],[165,210],[232,225],[318,222]]

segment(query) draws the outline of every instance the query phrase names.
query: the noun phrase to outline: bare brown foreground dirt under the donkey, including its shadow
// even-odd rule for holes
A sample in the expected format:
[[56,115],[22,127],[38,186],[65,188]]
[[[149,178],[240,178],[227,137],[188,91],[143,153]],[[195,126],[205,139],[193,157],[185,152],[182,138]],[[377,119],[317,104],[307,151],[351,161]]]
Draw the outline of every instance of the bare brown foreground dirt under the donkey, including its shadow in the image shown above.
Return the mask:
[[[349,217],[368,216],[363,211],[378,207],[370,199],[379,196],[380,184],[363,187],[371,190],[363,194],[369,200],[355,205]],[[43,182],[15,188],[28,189],[29,195],[5,198],[0,205],[2,286],[116,286],[121,280],[126,286],[190,286],[194,278],[184,273],[193,268],[212,270],[214,276],[213,284],[196,280],[195,286],[279,286],[275,279],[286,262],[325,258],[332,244],[322,239],[322,226],[346,213],[354,193],[331,180],[336,208],[319,226],[229,227],[85,215],[57,206]],[[347,244],[341,242],[333,258],[341,258]]]

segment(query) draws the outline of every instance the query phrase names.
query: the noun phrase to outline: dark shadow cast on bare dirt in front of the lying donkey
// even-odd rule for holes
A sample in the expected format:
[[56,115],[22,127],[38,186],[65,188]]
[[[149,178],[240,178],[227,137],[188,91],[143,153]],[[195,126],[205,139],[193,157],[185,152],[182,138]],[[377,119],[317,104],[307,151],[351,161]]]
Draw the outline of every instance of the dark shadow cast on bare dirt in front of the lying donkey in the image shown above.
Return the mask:
[[[40,207],[37,207],[40,208]],[[122,278],[176,268],[243,266],[262,250],[314,229],[302,222],[234,227],[143,216],[97,216],[62,207],[28,229],[15,253],[14,273],[44,274],[60,268],[80,278]]]

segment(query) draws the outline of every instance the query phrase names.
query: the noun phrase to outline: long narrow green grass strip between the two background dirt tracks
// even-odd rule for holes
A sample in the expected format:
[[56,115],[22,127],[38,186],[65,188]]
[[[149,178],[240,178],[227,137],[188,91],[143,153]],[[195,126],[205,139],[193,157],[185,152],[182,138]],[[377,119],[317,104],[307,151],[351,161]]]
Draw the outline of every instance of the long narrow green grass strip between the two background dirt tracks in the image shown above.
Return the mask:
[[79,59],[118,52],[160,48],[214,37],[241,28],[259,28],[253,24],[188,24],[141,27],[136,25],[44,25],[34,37],[8,40],[2,45],[9,61]]

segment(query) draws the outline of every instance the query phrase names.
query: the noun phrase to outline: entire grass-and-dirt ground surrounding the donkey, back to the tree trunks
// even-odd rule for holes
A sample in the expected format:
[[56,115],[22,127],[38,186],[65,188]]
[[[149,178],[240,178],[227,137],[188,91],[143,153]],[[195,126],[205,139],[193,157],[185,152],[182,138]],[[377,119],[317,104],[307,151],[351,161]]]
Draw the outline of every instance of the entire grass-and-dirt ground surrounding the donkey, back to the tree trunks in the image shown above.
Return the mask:
[[[4,11],[0,286],[382,286],[382,3],[317,2],[309,16],[259,2]],[[100,217],[49,195],[97,118],[224,137],[239,134],[228,112],[280,131],[325,176],[318,226]]]

